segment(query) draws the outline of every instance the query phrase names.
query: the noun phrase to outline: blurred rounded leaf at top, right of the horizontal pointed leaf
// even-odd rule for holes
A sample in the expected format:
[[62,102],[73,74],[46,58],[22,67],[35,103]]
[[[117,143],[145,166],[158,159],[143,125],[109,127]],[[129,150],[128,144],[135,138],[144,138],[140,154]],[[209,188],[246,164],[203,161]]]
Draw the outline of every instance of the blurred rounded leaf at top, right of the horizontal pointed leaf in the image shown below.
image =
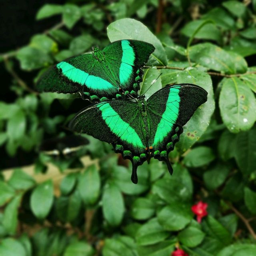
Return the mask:
[[80,8],[74,4],[65,4],[62,19],[67,28],[71,29],[81,18]]

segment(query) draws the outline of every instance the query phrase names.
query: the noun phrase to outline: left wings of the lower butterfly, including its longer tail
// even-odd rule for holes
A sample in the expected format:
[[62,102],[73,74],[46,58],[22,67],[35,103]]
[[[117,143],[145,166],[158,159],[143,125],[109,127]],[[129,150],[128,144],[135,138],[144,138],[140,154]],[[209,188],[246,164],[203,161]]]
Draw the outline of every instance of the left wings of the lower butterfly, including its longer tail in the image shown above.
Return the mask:
[[79,112],[70,128],[111,143],[115,152],[132,161],[132,182],[137,183],[137,166],[146,160],[145,130],[137,103],[110,100],[93,104]]

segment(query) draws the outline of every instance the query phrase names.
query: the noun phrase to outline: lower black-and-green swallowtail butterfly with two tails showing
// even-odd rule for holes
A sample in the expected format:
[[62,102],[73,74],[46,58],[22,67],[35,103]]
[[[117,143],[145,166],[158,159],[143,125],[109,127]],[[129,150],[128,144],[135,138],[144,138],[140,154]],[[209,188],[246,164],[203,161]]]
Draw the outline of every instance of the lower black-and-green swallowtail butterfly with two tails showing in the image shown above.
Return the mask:
[[194,84],[166,86],[145,100],[109,100],[81,110],[70,128],[113,145],[116,153],[132,162],[132,182],[138,183],[137,167],[154,157],[172,166],[168,153],[174,149],[182,126],[207,100],[207,92]]

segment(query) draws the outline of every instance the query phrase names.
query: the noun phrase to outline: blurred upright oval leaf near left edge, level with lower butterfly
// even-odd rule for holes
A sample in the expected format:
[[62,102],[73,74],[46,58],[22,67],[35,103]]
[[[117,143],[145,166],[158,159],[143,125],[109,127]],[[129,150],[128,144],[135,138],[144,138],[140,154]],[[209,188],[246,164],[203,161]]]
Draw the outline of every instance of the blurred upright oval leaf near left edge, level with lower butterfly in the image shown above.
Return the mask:
[[26,130],[26,116],[24,111],[19,110],[12,114],[7,123],[7,134],[12,140],[19,140]]

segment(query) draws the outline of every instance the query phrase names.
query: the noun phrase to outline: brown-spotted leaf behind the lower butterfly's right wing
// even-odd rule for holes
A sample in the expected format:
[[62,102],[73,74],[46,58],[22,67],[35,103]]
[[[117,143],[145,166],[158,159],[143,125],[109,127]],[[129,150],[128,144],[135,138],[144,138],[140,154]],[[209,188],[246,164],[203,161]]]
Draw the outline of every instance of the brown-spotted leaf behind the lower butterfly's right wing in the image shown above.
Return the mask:
[[[208,92],[207,102],[202,104],[194,113],[192,118],[183,126],[184,132],[180,135],[180,141],[176,148],[180,153],[190,148],[210,124],[210,118],[215,108],[212,80],[208,74],[196,69],[188,68],[177,74],[177,83],[196,84]],[[200,124],[200,126],[198,126]]]

